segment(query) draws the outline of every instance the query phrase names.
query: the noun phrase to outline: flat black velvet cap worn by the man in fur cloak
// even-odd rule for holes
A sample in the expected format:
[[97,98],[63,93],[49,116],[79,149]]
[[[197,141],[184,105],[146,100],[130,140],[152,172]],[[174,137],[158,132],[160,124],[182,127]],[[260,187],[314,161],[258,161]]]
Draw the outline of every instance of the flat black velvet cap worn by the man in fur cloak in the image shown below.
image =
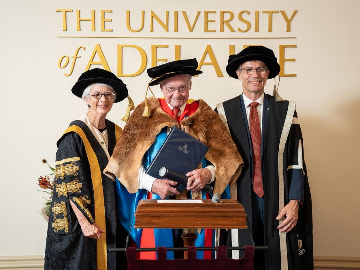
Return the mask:
[[162,80],[180,74],[190,74],[191,76],[199,75],[202,71],[196,70],[197,67],[198,61],[196,58],[193,58],[168,62],[157,67],[149,68],[147,70],[149,77],[155,78],[155,80],[150,82],[149,86],[157,85]]

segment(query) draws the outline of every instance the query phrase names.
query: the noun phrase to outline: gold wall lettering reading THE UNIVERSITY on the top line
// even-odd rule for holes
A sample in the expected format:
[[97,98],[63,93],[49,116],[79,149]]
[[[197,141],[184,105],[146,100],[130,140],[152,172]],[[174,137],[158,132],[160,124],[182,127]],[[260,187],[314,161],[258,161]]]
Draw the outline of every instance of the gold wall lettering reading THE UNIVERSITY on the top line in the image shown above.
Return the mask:
[[[75,16],[72,13],[72,9],[56,9],[56,12],[62,13],[62,31],[67,31],[67,18],[69,16]],[[86,10],[85,12],[89,12],[89,10]],[[99,11],[98,11],[99,12]],[[112,29],[106,29],[105,28],[105,22],[112,22],[113,19],[111,18],[105,18],[105,13],[112,13],[112,10],[100,10],[100,16],[97,18],[100,18],[100,31],[101,32],[112,32]],[[141,22],[138,29],[133,29],[130,26],[130,10],[125,10],[124,16],[126,17],[126,28],[130,32],[140,32],[144,30],[144,24],[145,24],[145,18],[150,21],[148,30],[150,32],[154,32],[154,21],[157,22],[159,26],[161,26],[167,33],[169,32],[169,21],[174,22],[174,33],[179,31],[179,23],[185,24],[189,32],[193,32],[195,25],[198,22],[198,18],[200,15],[203,16],[203,31],[206,32],[224,32],[224,26],[230,30],[230,32],[247,32],[249,30],[253,30],[253,32],[259,31],[259,22],[261,22],[263,25],[262,27],[264,29],[267,29],[267,32],[273,31],[273,21],[274,20],[281,20],[283,23],[286,24],[286,31],[291,31],[291,23],[297,14],[298,10],[293,10],[291,16],[289,16],[285,10],[239,10],[237,12],[231,11],[231,10],[220,10],[220,12],[217,13],[216,10],[203,10],[203,11],[197,11],[197,14],[195,15],[195,18],[192,20],[192,23],[190,23],[188,14],[186,11],[181,11],[182,17],[179,18],[179,10],[174,10],[172,12],[169,12],[168,10],[164,10],[161,14],[155,13],[153,10],[145,12],[144,10],[141,10],[141,15],[135,14],[135,19],[133,19],[133,22]],[[76,10],[76,31],[81,31],[80,23],[81,21],[91,21],[91,31],[95,31],[95,10],[90,10],[91,18],[81,18],[80,16],[80,9]],[[217,14],[216,14],[217,13]],[[244,18],[244,13],[246,13],[246,18]],[[280,14],[281,16],[280,16]],[[225,19],[225,14],[229,14],[229,18]],[[235,14],[237,14],[237,20],[234,20]],[[263,14],[263,15],[261,15]],[[146,16],[146,17],[145,17]],[[267,20],[261,19],[260,17],[267,16]],[[162,17],[162,19],[161,19]],[[164,19],[165,17],[165,19]],[[73,18],[75,21],[75,18]],[[99,19],[97,19],[99,20]],[[254,21],[255,24],[252,27],[250,21]],[[245,23],[246,28],[240,28],[239,24]],[[267,26],[267,27],[266,27]],[[211,29],[210,29],[211,28]],[[88,27],[86,29],[89,29]],[[236,30],[235,30],[236,29]]]

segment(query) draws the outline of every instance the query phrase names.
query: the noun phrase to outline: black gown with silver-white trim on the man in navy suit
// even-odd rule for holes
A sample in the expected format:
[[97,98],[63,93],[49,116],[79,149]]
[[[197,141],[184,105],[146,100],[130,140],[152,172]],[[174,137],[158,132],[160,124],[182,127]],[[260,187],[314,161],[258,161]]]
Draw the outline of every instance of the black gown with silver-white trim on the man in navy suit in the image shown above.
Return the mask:
[[[253,192],[252,192],[252,150],[249,136],[249,128],[246,120],[246,111],[242,97],[237,96],[222,103],[230,134],[238,147],[239,153],[244,160],[244,167],[237,180],[237,199],[244,206],[248,215],[250,228],[253,229],[254,239],[256,234],[263,233],[263,243],[269,246],[265,251],[265,269],[313,269],[313,246],[312,246],[312,208],[309,182],[307,179],[306,166],[303,159],[303,144],[300,125],[292,119],[297,119],[296,111],[288,116],[289,102],[276,102],[273,96],[265,94],[262,123],[262,176],[264,184],[265,220],[264,231],[256,231],[258,219],[253,217]],[[217,111],[217,110],[216,110]],[[289,112],[291,109],[289,109]],[[287,121],[286,121],[287,120]],[[289,123],[290,120],[290,123]],[[288,130],[287,136],[282,133]],[[286,133],[286,132],[285,132]],[[301,152],[299,151],[301,140]],[[282,146],[283,145],[283,146]],[[279,149],[283,149],[283,155]],[[279,233],[277,226],[279,221],[275,218],[279,213],[279,179],[283,177],[283,205],[289,202],[289,192],[292,181],[292,171],[289,166],[297,167],[300,159],[304,173],[303,205],[299,207],[299,219],[296,227],[286,237]],[[281,160],[282,159],[282,160]],[[280,174],[279,174],[280,172]],[[283,176],[280,177],[281,172]],[[280,179],[281,180],[281,179]],[[280,194],[281,195],[281,194]],[[281,197],[280,197],[281,198]],[[280,209],[281,210],[281,209]],[[255,213],[254,213],[255,215]],[[262,225],[260,226],[260,228]],[[283,234],[284,235],[284,234]],[[228,234],[229,238],[231,234]],[[239,246],[252,245],[248,230],[238,230]],[[231,238],[228,239],[231,244]],[[259,245],[256,243],[255,244]],[[240,254],[241,257],[241,254]],[[286,262],[281,260],[287,259]]]

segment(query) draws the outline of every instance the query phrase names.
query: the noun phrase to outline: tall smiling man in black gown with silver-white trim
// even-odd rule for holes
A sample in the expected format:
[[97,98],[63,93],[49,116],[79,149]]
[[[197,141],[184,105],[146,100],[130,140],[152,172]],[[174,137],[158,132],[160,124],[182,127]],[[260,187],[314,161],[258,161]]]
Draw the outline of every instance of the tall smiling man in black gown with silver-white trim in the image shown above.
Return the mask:
[[[237,199],[248,215],[256,246],[254,269],[313,269],[312,212],[303,139],[295,102],[264,93],[266,80],[280,72],[274,52],[249,46],[229,56],[228,74],[243,93],[217,104],[216,111],[244,159]],[[230,239],[229,239],[230,240]],[[251,244],[246,230],[230,243]],[[233,256],[234,258],[234,256]]]

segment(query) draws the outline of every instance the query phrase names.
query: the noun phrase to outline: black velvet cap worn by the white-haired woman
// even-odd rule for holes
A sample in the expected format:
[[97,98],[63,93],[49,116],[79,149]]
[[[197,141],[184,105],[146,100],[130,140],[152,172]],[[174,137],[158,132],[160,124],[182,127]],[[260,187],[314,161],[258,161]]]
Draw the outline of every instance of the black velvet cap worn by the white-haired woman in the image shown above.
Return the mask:
[[94,68],[85,71],[80,75],[76,84],[72,87],[71,92],[81,98],[82,92],[89,84],[94,82],[100,82],[102,84],[107,84],[113,87],[116,93],[116,99],[114,103],[119,102],[127,97],[127,88],[126,84],[122,82],[116,75],[110,71]]

